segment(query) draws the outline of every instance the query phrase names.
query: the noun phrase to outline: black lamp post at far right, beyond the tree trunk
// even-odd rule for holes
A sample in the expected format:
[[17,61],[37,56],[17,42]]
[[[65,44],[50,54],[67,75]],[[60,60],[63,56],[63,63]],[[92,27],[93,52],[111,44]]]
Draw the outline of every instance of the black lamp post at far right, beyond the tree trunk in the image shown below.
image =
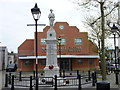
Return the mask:
[[117,67],[117,54],[116,54],[116,32],[118,31],[118,27],[113,24],[113,27],[111,27],[111,32],[114,35],[114,55],[115,55],[115,78],[116,78],[116,84],[118,84],[118,67]]

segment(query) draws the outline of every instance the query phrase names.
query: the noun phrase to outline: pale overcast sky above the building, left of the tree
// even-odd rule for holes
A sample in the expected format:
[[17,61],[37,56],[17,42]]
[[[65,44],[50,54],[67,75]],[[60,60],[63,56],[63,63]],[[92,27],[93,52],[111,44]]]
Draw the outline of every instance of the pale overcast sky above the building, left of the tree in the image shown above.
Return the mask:
[[[35,21],[31,8],[37,3],[41,10],[39,24],[49,25],[48,14],[53,9],[55,22],[68,22],[84,31],[82,14],[70,0],[0,0],[0,45],[7,46],[8,51],[17,52],[17,48],[26,40],[33,39],[35,27],[27,26]],[[45,26],[39,26],[42,32]]]

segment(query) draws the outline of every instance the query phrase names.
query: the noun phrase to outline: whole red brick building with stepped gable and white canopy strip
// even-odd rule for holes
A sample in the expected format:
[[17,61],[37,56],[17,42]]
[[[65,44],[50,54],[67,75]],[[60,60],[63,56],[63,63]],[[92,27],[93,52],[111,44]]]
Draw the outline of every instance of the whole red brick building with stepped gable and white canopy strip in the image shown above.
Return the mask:
[[[50,27],[38,32],[38,70],[43,70],[46,63],[46,38]],[[76,26],[69,26],[67,22],[54,24],[58,41],[58,65],[61,70],[89,70],[98,69],[97,46],[88,40],[87,32],[80,32]],[[35,40],[26,39],[18,47],[18,70],[35,70]]]

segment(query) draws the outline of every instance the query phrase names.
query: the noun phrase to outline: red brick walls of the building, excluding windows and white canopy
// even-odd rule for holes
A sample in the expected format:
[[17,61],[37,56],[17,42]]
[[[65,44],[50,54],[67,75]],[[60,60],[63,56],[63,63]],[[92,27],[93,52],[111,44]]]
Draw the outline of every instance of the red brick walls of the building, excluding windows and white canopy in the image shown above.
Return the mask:
[[[64,25],[64,29],[60,30],[59,25]],[[41,44],[41,38],[47,38],[47,31],[50,27],[46,26],[43,29],[43,32],[38,32],[38,55],[46,55],[45,48],[46,45]],[[67,22],[56,22],[54,29],[56,31],[56,38],[58,39],[59,36],[61,38],[66,39],[66,44],[61,45],[61,54],[63,55],[97,55],[97,47],[91,41],[88,40],[88,33],[87,32],[80,32],[76,26],[69,26]],[[75,38],[82,38],[81,45],[75,45],[74,39]],[[70,51],[72,50],[72,51]],[[77,51],[78,50],[78,51]],[[18,54],[19,55],[35,55],[35,40],[27,39],[25,40],[19,47],[18,47]],[[59,55],[59,52],[58,52]],[[82,59],[83,64],[78,64],[77,59],[72,60],[72,68],[73,70],[88,69],[88,60],[89,59]],[[92,59],[95,64],[90,65],[90,67],[94,68],[95,65],[98,66],[98,59]],[[22,62],[23,61],[23,62]],[[19,60],[18,66],[21,66],[21,62],[25,63],[25,60]],[[39,70],[43,70],[45,65],[41,65],[38,62]],[[33,65],[25,66],[23,64],[24,70],[35,70],[35,60],[33,60]]]

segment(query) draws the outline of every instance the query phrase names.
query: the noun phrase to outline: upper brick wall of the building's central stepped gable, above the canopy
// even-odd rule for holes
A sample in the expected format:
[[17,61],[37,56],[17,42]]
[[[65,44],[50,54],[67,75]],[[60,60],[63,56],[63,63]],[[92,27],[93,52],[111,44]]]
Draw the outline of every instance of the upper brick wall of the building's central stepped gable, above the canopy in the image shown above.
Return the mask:
[[[59,25],[64,25],[64,29],[60,30]],[[47,26],[44,28],[43,32],[38,33],[38,54],[39,55],[46,55],[42,48],[46,48],[46,45],[41,45],[40,38],[46,38],[46,33],[49,27]],[[62,54],[66,55],[81,55],[81,54],[90,54],[89,53],[89,41],[88,41],[88,33],[87,32],[79,32],[79,29],[75,26],[69,26],[66,22],[57,22],[55,23],[54,29],[56,31],[56,38],[65,38],[66,45],[61,45],[61,52]],[[82,38],[81,45],[75,45],[74,39],[75,38]],[[62,50],[63,48],[63,50]],[[74,48],[74,51],[69,51],[70,49]],[[75,51],[75,50],[80,51]]]

